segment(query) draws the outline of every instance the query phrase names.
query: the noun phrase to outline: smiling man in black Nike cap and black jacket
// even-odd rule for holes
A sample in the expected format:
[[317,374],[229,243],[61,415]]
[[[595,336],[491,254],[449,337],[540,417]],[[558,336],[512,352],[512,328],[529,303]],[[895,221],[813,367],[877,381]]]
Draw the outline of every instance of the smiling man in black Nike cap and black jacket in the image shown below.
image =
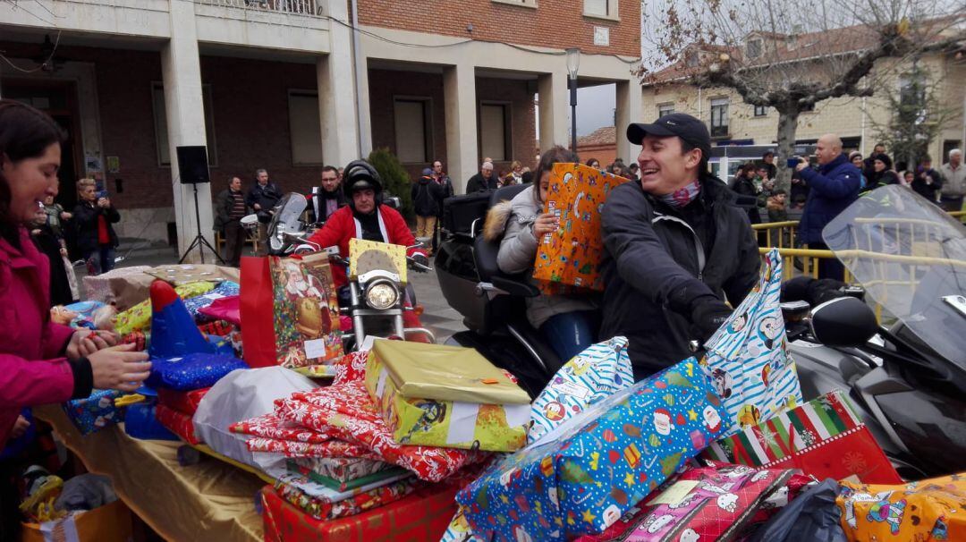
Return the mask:
[[603,212],[602,337],[624,335],[640,380],[693,355],[758,279],[748,214],[708,172],[711,137],[691,115],[632,124],[638,183],[614,188]]

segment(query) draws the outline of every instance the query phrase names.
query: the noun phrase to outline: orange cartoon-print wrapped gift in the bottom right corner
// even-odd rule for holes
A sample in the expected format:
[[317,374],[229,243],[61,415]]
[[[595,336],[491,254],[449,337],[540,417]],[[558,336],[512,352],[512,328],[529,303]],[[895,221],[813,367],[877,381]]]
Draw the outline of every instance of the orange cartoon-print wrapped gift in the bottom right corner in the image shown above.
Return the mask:
[[836,504],[853,542],[966,540],[966,473],[901,485],[842,482]]

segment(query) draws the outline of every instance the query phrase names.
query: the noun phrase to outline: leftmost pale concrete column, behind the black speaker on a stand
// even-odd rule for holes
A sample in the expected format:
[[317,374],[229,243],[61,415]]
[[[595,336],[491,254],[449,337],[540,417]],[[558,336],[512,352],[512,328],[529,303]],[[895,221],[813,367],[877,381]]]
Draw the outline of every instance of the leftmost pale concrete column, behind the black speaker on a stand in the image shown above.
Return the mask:
[[[185,145],[207,145],[194,2],[171,0],[170,15],[171,40],[161,48],[161,75],[168,122],[171,188],[178,224],[178,252],[183,253],[199,230],[209,242],[213,242],[212,187],[197,185],[199,224],[194,214],[194,186],[181,184],[177,151],[178,147]],[[193,250],[186,261],[199,261],[198,250]],[[205,261],[214,261],[213,254],[207,249]]]

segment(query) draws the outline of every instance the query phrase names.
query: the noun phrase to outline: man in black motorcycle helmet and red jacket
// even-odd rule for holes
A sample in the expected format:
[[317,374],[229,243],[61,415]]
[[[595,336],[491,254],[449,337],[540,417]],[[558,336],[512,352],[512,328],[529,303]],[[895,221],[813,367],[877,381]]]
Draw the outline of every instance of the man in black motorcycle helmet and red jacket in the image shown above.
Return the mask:
[[[349,205],[331,214],[326,225],[309,238],[309,242],[323,248],[337,244],[343,256],[349,255],[349,241],[354,238],[403,246],[415,244],[403,215],[383,204],[383,183],[379,172],[369,162],[350,162],[342,185]],[[429,264],[426,251],[421,248],[410,248],[407,255],[420,264]],[[332,279],[336,288],[345,286],[346,270],[341,266],[333,267]]]

